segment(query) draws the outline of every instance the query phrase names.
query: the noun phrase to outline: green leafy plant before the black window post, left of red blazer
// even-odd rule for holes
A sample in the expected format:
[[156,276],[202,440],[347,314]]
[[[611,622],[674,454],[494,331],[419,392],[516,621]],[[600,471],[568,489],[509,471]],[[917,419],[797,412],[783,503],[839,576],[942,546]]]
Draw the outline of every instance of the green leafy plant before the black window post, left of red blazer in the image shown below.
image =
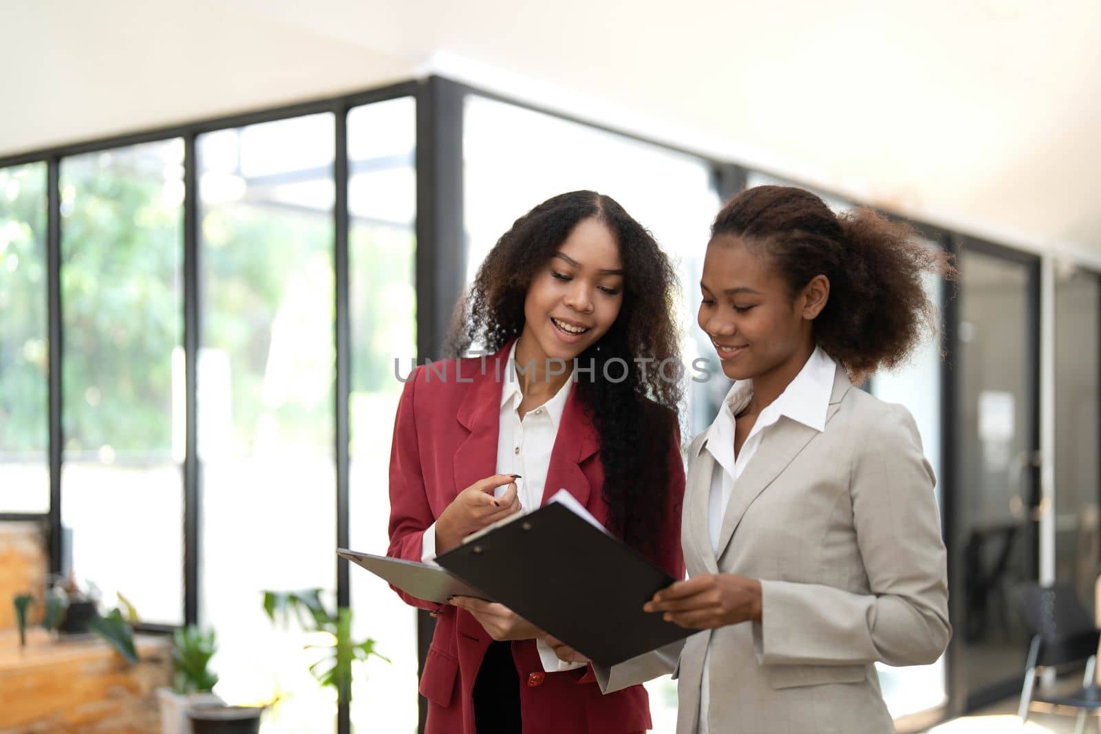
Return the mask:
[[336,614],[331,614],[321,602],[320,593],[320,589],[265,591],[264,612],[272,622],[285,625],[293,617],[307,631],[328,633],[331,642],[306,646],[326,653],[309,666],[309,671],[321,686],[331,686],[337,690],[340,703],[348,703],[351,701],[352,664],[364,662],[371,657],[390,662],[390,658],[375,651],[374,639],[370,637],[355,642],[351,636],[351,610],[339,607]]

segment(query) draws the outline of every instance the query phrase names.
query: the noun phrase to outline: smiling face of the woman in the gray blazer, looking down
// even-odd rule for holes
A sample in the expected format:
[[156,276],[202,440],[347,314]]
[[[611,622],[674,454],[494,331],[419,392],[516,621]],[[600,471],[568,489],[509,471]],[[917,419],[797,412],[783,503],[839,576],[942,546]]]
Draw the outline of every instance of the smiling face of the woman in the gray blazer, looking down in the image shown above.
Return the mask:
[[817,276],[793,298],[762,252],[719,234],[704,259],[697,321],[731,380],[797,374],[814,351],[811,325],[829,293],[829,282]]

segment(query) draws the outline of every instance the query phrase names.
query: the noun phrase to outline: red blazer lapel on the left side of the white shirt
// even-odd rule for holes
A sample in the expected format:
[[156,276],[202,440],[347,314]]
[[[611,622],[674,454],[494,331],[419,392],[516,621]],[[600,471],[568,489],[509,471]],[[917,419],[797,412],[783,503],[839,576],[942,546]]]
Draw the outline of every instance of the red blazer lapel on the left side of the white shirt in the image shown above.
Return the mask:
[[[456,417],[470,431],[459,443],[453,459],[455,494],[475,482],[497,473],[497,440],[501,428],[501,375],[508,362],[509,348],[486,360],[486,371],[476,370],[473,380],[459,404]],[[503,377],[502,377],[503,379]]]

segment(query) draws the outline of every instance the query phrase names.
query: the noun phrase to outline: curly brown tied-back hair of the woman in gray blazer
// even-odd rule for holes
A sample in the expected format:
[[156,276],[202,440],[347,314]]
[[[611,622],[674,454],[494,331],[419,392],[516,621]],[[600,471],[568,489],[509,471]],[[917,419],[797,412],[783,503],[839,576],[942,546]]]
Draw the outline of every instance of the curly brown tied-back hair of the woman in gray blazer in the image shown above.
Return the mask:
[[794,297],[816,275],[830,283],[814,338],[858,384],[903,363],[937,309],[924,273],[952,280],[952,256],[918,241],[912,227],[866,207],[835,215],[810,191],[755,186],[730,199],[711,237],[732,234],[772,261]]

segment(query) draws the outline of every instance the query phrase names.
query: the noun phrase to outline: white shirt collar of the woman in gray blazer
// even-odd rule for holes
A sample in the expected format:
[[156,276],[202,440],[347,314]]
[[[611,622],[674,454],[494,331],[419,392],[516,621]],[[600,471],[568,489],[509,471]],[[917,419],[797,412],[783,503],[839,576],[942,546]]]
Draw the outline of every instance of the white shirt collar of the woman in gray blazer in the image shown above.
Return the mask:
[[[761,412],[754,424],[753,432],[771,426],[787,416],[792,420],[814,428],[817,431],[826,429],[826,415],[829,412],[829,398],[833,392],[833,377],[837,363],[821,347],[815,347],[799,374],[788,383],[768,407]],[[708,427],[705,440],[708,450],[726,465],[733,464],[734,452],[734,416],[741,413],[753,397],[753,381],[737,380],[722,401],[719,415]],[[713,443],[713,446],[712,446]],[[728,449],[729,447],[729,449]],[[729,452],[729,457],[726,456]]]

